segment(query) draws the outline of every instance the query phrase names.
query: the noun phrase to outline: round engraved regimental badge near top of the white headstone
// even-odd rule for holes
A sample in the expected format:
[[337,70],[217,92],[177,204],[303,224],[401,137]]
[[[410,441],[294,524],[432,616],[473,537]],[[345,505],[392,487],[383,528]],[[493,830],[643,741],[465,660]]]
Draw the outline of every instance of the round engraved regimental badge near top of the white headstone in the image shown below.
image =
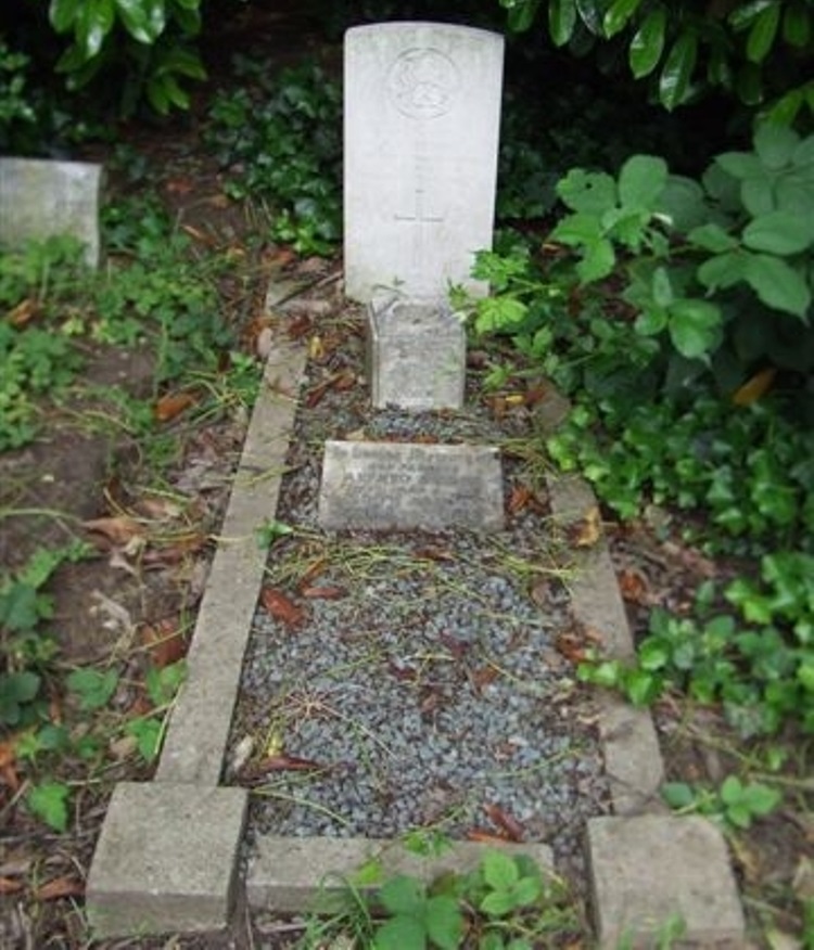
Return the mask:
[[408,118],[446,115],[459,86],[455,63],[433,49],[406,50],[396,57],[387,75],[390,100]]

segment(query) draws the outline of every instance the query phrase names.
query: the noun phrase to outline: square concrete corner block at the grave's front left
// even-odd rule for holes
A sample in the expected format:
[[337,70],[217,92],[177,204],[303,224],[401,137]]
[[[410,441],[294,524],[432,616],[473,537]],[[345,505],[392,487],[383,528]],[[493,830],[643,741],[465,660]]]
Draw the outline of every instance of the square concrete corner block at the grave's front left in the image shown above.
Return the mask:
[[88,876],[94,938],[226,927],[246,804],[243,788],[117,785]]

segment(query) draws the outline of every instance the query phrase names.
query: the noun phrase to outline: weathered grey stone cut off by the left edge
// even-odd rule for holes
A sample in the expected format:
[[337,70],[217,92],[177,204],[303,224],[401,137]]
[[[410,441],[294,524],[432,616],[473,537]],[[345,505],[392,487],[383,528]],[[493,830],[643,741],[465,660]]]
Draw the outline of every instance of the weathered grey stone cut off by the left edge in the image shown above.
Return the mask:
[[72,234],[99,266],[102,166],[86,162],[0,158],[0,244]]

